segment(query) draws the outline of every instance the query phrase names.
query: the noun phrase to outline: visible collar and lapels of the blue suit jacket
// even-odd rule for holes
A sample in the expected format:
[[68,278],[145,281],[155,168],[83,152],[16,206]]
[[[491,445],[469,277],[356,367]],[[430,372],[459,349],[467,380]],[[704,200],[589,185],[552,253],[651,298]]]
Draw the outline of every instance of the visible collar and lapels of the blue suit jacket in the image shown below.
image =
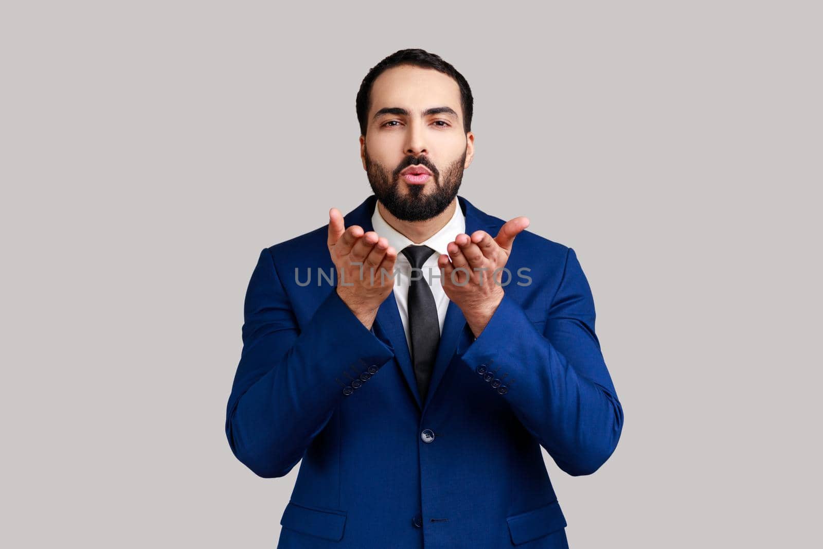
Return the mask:
[[[345,226],[359,225],[365,232],[374,230],[374,226],[371,224],[371,216],[374,214],[374,207],[376,207],[376,205],[377,197],[372,194],[369,198],[366,198],[360,206],[345,216]],[[481,229],[486,230],[492,236],[496,236],[496,232],[491,232],[495,230],[495,226],[491,222],[493,220],[474,207],[471,202],[458,196],[458,206],[463,209],[463,214],[466,216],[467,235],[471,235],[475,230]],[[417,379],[414,375],[414,367],[412,365],[412,353],[409,351],[406,332],[403,330],[398,303],[397,300],[394,299],[393,291],[377,311],[377,317],[374,319],[374,334],[389,347],[393,348],[394,356],[398,361],[403,378],[406,379],[407,387],[412,393],[417,407],[421,409],[421,411],[425,411],[425,406],[431,401],[431,398],[435,394],[440,380],[443,379],[452,361],[460,338],[465,337],[468,341],[472,339],[472,335],[468,333],[466,329],[466,317],[463,316],[463,311],[460,310],[458,305],[453,301],[449,301],[449,307],[446,309],[446,318],[443,324],[443,332],[440,335],[440,341],[437,347],[437,355],[435,356],[435,365],[431,375],[429,390],[425,402],[421,402],[420,392],[417,390]]]

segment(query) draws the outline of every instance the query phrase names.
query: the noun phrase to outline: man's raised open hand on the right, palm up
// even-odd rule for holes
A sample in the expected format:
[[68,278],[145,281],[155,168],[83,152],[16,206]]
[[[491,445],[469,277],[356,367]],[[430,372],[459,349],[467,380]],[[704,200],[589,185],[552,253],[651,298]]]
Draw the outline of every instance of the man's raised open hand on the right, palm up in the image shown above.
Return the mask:
[[[471,237],[461,233],[449,242],[449,255],[441,254],[437,260],[444,272],[443,290],[463,311],[475,337],[480,336],[503,300],[502,268],[509,261],[514,237],[528,224],[528,217],[515,217],[500,227],[495,238],[485,230],[476,230]],[[496,275],[495,269],[500,269]]]

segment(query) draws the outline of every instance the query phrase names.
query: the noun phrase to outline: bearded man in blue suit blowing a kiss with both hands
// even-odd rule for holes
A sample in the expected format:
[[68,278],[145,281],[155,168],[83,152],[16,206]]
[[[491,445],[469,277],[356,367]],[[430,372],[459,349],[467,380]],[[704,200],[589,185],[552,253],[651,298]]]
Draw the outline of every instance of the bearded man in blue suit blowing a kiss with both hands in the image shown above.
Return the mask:
[[384,58],[356,97],[373,194],[258,258],[226,436],[259,477],[302,459],[281,549],[569,547],[541,447],[574,476],[616,449],[574,249],[458,195],[472,103],[439,56]]

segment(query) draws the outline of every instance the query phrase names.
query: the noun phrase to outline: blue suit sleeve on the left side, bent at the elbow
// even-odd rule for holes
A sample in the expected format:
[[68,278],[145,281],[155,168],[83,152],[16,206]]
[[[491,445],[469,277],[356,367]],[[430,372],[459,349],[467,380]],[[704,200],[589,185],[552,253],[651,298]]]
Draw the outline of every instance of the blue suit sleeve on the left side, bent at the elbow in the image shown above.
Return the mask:
[[235,457],[260,477],[282,477],[303,457],[346,396],[337,379],[394,354],[332,289],[302,329],[263,249],[244,304],[243,350],[226,407]]

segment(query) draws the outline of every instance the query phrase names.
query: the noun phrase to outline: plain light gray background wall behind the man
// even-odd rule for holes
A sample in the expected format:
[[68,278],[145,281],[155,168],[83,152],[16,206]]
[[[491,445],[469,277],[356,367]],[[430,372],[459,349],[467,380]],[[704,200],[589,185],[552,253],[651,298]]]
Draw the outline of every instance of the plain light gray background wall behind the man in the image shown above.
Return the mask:
[[2,545],[275,547],[297,468],[223,430],[246,285],[370,193],[356,91],[421,47],[475,94],[461,194],[593,288],[626,423],[546,455],[571,547],[819,547],[815,5],[4,2]]

